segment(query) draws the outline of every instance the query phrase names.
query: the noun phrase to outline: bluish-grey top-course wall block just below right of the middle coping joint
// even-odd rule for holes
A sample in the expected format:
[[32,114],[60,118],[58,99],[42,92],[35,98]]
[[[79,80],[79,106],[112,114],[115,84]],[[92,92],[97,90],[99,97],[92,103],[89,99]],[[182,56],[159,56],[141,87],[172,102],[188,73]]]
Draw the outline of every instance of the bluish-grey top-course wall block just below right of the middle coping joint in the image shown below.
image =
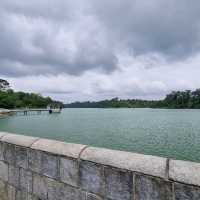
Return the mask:
[[86,191],[103,194],[104,193],[104,173],[100,165],[81,161],[80,163],[80,185]]

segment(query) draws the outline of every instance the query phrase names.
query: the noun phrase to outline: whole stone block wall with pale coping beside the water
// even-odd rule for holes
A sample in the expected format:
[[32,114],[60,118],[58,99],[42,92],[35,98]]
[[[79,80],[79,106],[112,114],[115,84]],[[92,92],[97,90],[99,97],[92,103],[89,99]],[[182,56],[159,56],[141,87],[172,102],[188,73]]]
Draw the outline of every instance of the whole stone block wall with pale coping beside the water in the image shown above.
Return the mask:
[[200,164],[0,133],[0,200],[200,200]]

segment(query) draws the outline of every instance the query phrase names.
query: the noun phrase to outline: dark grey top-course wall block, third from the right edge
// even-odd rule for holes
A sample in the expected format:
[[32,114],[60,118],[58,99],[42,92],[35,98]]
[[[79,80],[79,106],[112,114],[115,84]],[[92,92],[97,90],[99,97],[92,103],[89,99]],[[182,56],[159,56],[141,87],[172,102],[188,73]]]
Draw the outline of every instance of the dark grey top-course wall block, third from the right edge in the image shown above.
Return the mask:
[[110,167],[105,168],[105,196],[112,200],[131,200],[133,175]]

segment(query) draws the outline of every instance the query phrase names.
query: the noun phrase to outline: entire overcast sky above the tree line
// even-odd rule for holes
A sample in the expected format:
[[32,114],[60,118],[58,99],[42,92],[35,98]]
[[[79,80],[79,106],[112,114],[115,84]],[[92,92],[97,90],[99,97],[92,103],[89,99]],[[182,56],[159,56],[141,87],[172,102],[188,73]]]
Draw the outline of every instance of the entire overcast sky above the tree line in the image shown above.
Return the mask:
[[64,102],[200,88],[200,1],[1,0],[0,77]]

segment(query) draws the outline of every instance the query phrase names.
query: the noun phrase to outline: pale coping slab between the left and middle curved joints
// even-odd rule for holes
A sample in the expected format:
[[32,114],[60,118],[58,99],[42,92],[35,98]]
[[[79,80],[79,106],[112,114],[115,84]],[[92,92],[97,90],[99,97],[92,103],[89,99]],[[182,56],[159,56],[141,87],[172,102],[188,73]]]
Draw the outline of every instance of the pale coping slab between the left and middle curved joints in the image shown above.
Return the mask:
[[46,151],[71,158],[78,158],[84,147],[86,146],[81,144],[71,144],[48,139],[39,139],[31,146],[32,149]]

